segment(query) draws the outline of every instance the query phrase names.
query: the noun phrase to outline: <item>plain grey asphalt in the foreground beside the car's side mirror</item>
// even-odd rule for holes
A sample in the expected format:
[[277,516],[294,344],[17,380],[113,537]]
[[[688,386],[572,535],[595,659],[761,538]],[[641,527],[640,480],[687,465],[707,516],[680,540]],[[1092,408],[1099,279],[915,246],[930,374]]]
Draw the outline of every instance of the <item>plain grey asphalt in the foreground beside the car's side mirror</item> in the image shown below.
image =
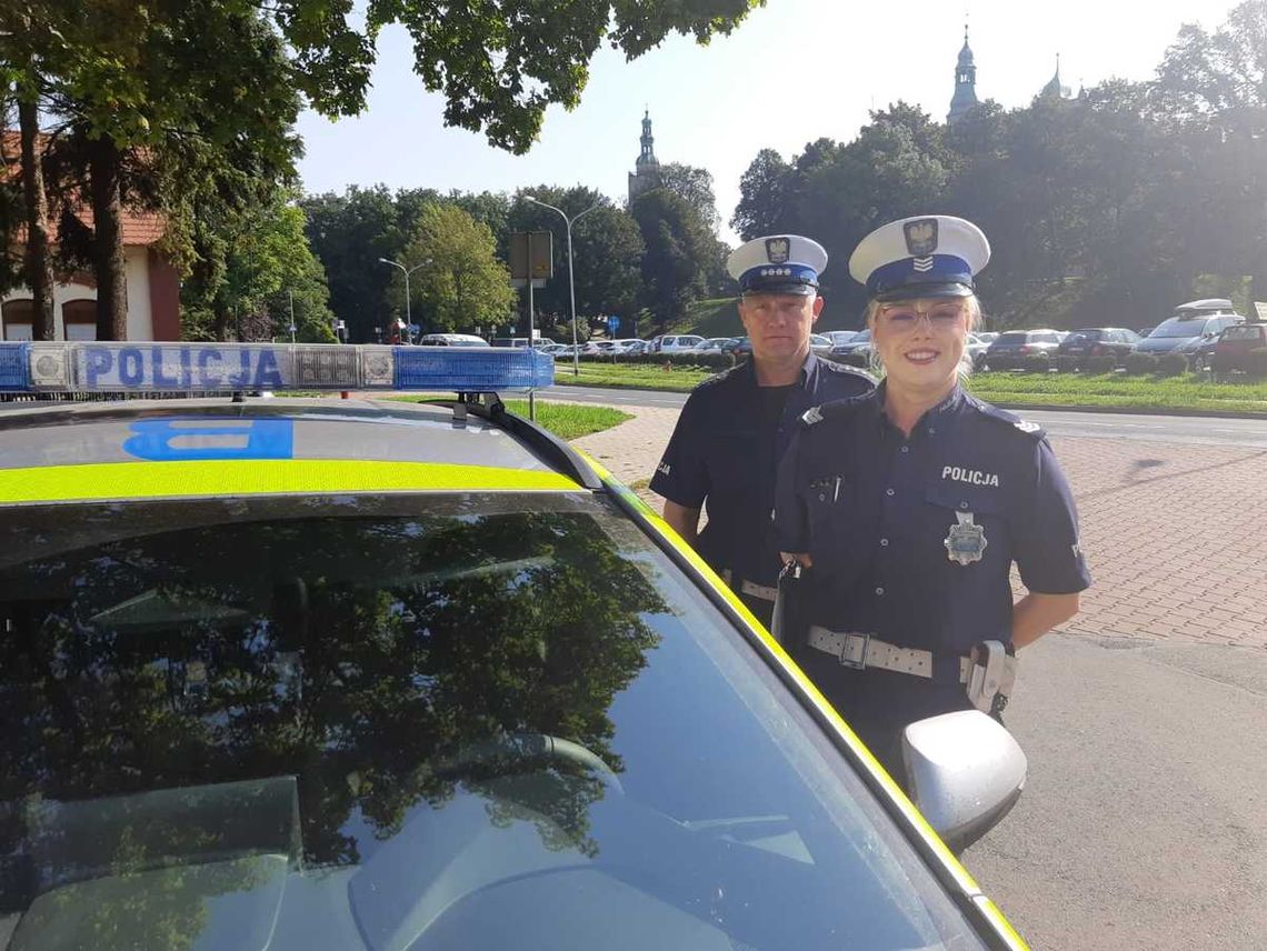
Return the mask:
[[1267,947],[1267,652],[1049,634],[1016,808],[963,862],[1035,948]]

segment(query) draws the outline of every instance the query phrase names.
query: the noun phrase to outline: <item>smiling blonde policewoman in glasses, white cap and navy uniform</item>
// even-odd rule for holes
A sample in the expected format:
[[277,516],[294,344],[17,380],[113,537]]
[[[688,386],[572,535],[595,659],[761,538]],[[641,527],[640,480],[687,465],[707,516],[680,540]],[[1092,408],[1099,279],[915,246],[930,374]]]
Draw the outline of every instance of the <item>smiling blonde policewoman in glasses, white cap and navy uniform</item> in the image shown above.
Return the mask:
[[[960,386],[988,260],[959,218],[867,236],[849,272],[884,380],[807,412],[779,469],[777,541],[807,567],[797,657],[900,781],[902,728],[997,715],[1015,650],[1072,618],[1091,584],[1043,431]],[[1012,562],[1028,589],[1015,603]]]

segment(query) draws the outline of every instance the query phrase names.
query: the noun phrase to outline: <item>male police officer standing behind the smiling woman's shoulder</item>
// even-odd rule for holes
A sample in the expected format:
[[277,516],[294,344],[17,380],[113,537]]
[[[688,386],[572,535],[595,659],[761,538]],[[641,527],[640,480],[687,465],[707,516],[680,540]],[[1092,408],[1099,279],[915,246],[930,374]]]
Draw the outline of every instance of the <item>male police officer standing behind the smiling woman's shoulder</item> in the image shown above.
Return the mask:
[[756,238],[730,256],[753,358],[694,389],[651,479],[665,520],[767,627],[779,572],[770,532],[778,458],[810,406],[874,387],[862,371],[810,348],[826,265],[822,246],[796,234]]

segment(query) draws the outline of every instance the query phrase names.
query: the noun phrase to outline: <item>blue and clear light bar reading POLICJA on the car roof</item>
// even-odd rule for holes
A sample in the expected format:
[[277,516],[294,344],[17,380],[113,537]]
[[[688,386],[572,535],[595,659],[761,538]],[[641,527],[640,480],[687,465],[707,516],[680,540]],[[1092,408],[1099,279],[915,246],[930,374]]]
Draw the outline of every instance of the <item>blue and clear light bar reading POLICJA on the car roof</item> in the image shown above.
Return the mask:
[[228,393],[550,386],[535,350],[337,343],[0,343],[3,393]]

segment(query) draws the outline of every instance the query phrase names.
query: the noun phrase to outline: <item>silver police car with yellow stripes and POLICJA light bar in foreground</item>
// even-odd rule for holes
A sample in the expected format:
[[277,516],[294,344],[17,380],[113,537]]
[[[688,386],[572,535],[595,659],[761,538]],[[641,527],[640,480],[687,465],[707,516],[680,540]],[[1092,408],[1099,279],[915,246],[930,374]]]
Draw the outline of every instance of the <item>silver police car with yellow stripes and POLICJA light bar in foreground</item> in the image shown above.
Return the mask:
[[[551,377],[0,344],[0,947],[1024,946],[694,553],[493,395]],[[1016,785],[945,770],[998,742],[967,715],[910,737],[952,837]]]

